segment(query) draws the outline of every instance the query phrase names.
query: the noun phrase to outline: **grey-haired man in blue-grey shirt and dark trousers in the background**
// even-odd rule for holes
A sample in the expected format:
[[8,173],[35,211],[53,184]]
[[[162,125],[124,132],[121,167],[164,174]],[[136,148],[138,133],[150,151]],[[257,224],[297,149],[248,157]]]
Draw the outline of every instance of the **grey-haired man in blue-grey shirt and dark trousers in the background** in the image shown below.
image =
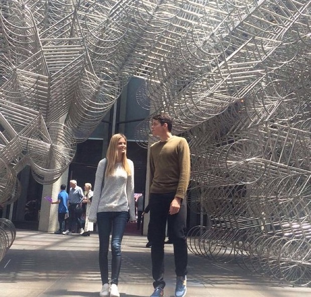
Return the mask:
[[81,213],[79,213],[79,210],[77,209],[77,205],[81,203],[83,199],[83,191],[82,189],[77,186],[77,181],[71,180],[70,181],[70,191],[69,191],[69,197],[68,197],[68,210],[69,210],[69,224],[68,224],[68,230],[63,232],[64,235],[70,235],[71,232],[75,229],[75,225],[77,224],[77,227],[81,231]]

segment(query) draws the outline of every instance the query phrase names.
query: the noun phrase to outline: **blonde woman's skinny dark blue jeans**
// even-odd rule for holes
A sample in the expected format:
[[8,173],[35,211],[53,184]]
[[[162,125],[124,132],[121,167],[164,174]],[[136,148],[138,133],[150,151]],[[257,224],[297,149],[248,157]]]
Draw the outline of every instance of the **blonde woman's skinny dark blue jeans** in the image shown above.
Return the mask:
[[111,283],[118,284],[121,268],[121,242],[127,220],[127,212],[97,213],[97,229],[99,236],[99,268],[102,284],[108,283],[108,249],[111,236]]

